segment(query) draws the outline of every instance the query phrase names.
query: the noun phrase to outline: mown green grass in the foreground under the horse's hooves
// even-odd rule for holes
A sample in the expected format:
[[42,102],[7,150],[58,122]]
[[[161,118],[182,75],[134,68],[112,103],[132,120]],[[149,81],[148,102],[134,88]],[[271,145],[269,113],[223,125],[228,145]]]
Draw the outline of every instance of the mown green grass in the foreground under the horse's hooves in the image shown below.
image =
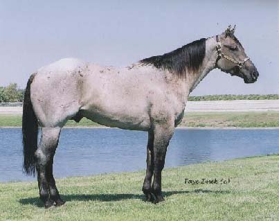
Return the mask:
[[[45,210],[36,182],[0,184],[0,220],[279,220],[279,156],[163,170],[165,202],[144,202],[144,171],[57,179],[66,204]],[[184,179],[231,179],[184,184]]]

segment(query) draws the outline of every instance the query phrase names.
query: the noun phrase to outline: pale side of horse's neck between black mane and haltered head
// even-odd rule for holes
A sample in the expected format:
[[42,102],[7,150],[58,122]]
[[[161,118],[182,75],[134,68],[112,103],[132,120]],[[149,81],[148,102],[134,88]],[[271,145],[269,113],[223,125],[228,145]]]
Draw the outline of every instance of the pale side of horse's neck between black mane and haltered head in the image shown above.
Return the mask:
[[[199,68],[199,71],[194,74],[190,74],[188,78],[188,85],[190,86],[191,92],[197,85],[199,85],[199,82],[203,80],[206,75],[215,68],[215,63],[217,60],[217,51],[216,51],[216,40],[215,37],[210,37],[206,39],[206,55],[204,57],[204,61],[202,62],[201,67]],[[191,76],[191,77],[190,77]]]

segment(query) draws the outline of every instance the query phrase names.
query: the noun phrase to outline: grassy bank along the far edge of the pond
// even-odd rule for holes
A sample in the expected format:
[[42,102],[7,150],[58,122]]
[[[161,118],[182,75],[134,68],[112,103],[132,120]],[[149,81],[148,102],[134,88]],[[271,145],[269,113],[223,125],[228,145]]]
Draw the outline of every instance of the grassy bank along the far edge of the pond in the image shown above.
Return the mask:
[[[82,118],[68,121],[68,127],[98,127]],[[279,112],[190,112],[179,126],[184,127],[279,127]],[[0,114],[0,127],[21,127],[21,115]]]

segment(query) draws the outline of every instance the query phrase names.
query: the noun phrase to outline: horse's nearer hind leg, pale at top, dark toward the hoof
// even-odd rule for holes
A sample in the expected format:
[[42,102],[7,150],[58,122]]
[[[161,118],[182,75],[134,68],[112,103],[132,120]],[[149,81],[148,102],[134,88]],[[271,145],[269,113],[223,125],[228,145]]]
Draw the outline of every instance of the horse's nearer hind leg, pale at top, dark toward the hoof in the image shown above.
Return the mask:
[[[60,199],[55,182],[53,183],[54,179],[52,181],[51,176],[49,175],[60,131],[60,127],[42,127],[41,140],[35,152],[37,158],[39,197],[44,202],[46,208],[53,206],[55,200],[58,198]],[[51,193],[51,197],[49,193]]]

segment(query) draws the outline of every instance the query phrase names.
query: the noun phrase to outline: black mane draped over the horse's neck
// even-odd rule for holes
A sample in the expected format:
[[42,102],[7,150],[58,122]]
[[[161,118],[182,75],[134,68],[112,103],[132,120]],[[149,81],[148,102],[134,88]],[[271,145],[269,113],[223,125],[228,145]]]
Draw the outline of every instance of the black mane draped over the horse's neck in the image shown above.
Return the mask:
[[183,76],[186,74],[186,70],[197,71],[205,55],[206,39],[202,38],[170,53],[145,58],[140,62],[153,64],[158,69],[167,69],[178,76]]

